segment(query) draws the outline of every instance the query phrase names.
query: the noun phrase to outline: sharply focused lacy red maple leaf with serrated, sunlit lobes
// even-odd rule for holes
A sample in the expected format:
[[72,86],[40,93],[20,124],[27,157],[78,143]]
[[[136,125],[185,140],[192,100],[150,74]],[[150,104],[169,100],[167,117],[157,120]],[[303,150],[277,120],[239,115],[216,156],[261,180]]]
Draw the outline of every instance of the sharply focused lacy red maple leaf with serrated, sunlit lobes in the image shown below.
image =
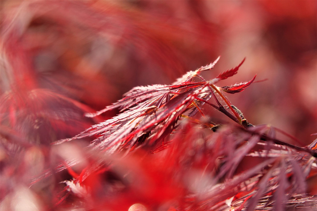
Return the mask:
[[[223,72],[213,80],[204,80],[200,76],[200,72],[212,69],[218,60],[219,57],[207,66],[187,72],[172,85],[134,87],[113,105],[109,105],[99,112],[86,114],[87,117],[94,117],[108,110],[119,108],[120,113],[117,116],[93,125],[75,137],[60,140],[55,144],[94,136],[96,138],[92,141],[90,147],[105,150],[109,153],[122,149],[131,150],[134,146],[143,143],[153,147],[174,130],[179,117],[183,115],[183,117],[191,119],[197,112],[202,114],[201,106],[205,103],[243,125],[241,115],[233,109],[234,106],[219,90],[242,91],[253,82],[254,78],[246,84],[239,85],[237,88],[235,88],[236,85],[228,86],[228,88],[217,87],[214,85],[215,83],[236,74],[244,61],[237,67]],[[195,81],[195,78],[200,81]],[[233,115],[229,112],[230,110],[226,110],[220,103],[219,97],[223,98]],[[212,98],[214,98],[216,104],[209,102]],[[184,115],[191,108],[193,108],[193,111],[188,116]],[[204,116],[204,114],[202,115]],[[212,124],[207,125],[215,126]]]

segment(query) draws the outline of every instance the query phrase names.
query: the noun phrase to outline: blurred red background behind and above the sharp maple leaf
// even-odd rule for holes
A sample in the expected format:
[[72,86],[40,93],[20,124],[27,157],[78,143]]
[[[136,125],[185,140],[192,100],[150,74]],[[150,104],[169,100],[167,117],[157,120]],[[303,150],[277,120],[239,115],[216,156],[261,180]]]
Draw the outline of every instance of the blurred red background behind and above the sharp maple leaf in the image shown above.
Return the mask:
[[7,139],[46,145],[74,136],[116,111],[94,120],[83,113],[134,86],[170,84],[218,55],[206,80],[244,57],[238,74],[220,85],[255,74],[268,79],[228,96],[250,123],[273,125],[305,144],[316,138],[310,136],[317,132],[316,1],[0,4],[1,132]]

